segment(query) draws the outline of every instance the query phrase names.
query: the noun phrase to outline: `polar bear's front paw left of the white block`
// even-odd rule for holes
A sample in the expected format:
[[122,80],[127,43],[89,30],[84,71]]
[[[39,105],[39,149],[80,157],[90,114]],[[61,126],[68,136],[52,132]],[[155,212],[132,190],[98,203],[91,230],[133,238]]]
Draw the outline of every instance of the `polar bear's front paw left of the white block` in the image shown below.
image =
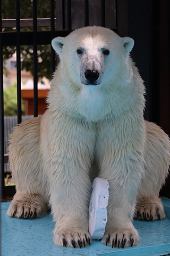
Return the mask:
[[65,247],[86,247],[91,245],[92,239],[89,233],[83,231],[73,231],[70,233],[54,233],[53,242],[58,246]]

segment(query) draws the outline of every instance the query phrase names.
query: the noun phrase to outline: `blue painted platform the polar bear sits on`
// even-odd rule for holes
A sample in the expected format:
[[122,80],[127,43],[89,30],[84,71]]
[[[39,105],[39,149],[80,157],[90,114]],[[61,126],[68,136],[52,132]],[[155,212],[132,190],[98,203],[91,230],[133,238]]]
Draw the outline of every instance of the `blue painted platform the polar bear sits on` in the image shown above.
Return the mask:
[[[160,256],[170,253],[170,199],[163,198],[167,219],[162,221],[137,221],[141,243],[129,248],[111,248],[94,241],[91,246],[82,249],[58,247],[53,244],[52,215],[42,219],[19,220],[6,216],[9,202],[1,204],[2,256]],[[169,254],[170,255],[170,254]]]

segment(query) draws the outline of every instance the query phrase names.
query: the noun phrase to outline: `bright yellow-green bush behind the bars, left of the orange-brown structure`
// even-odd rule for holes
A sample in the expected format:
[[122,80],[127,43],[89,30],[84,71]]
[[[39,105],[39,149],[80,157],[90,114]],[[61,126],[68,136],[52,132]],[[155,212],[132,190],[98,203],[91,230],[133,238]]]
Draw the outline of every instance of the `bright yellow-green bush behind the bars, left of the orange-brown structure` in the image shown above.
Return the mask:
[[[24,114],[24,102],[22,100],[22,114]],[[17,115],[17,93],[16,85],[12,85],[4,90],[4,115],[16,116]]]

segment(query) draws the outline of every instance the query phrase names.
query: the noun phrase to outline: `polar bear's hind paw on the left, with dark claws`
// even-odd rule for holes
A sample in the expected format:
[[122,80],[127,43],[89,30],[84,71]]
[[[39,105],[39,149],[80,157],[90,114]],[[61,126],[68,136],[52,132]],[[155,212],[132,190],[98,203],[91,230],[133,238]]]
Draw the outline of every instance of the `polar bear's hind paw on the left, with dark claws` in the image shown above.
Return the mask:
[[19,219],[34,219],[44,217],[47,213],[47,204],[39,194],[16,193],[6,214]]

